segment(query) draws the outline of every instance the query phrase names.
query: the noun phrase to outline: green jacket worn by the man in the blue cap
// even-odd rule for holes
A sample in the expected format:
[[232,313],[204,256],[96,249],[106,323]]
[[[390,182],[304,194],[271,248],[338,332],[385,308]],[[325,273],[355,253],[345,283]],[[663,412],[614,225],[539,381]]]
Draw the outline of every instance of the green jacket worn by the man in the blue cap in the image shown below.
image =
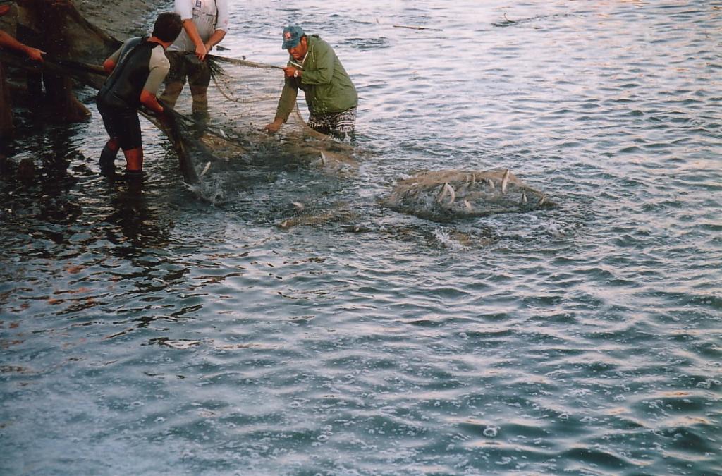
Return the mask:
[[[356,88],[329,43],[318,35],[308,35],[306,40],[308,52],[303,61],[303,77],[287,77],[278,101],[276,117],[284,122],[296,105],[298,88],[305,93],[311,113],[340,113],[358,104]],[[288,66],[298,68],[293,58]]]

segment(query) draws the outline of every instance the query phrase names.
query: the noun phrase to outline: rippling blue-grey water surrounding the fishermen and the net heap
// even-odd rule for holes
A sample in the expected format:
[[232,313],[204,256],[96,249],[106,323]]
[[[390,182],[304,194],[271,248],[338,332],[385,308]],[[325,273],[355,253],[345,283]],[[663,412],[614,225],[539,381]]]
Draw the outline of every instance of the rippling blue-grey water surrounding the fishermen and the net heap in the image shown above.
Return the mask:
[[[335,46],[359,173],[270,160],[214,205],[147,123],[140,194],[97,176],[97,115],[21,142],[45,169],[1,183],[0,472],[722,473],[722,4],[232,9],[227,56],[283,64],[287,22]],[[558,207],[378,203],[441,168]],[[283,230],[294,201],[342,217]]]

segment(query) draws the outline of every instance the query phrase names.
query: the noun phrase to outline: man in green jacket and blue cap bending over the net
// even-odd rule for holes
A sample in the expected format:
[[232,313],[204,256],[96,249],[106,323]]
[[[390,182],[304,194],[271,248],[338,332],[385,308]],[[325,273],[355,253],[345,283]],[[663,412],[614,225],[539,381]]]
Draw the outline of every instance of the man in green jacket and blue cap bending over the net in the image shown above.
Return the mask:
[[286,82],[276,110],[276,118],[266,130],[276,132],[288,120],[296,105],[299,88],[308,105],[308,125],[322,134],[350,138],[356,124],[358,95],[344,66],[329,43],[318,35],[307,36],[292,25],[283,30],[283,47],[290,59],[283,69]]

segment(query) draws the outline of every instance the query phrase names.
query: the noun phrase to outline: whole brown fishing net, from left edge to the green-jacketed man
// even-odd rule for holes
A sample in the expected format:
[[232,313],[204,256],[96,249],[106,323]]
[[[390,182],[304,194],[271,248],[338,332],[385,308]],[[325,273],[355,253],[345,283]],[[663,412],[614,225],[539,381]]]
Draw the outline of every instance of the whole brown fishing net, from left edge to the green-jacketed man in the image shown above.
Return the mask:
[[[48,54],[38,64],[17,52],[0,50],[0,61],[31,72],[72,77],[99,89],[105,81],[100,63],[120,43],[90,25],[71,4],[54,19],[68,43],[61,53]],[[264,126],[274,120],[284,85],[279,66],[212,55],[208,61],[212,71],[208,118],[193,118],[187,85],[175,111],[169,113],[170,120],[160,121],[140,111],[168,135],[187,183],[197,185],[223,170],[238,170],[238,164],[269,158],[303,163],[326,173],[355,170],[352,148],[310,129],[297,107],[277,134],[264,131]]]

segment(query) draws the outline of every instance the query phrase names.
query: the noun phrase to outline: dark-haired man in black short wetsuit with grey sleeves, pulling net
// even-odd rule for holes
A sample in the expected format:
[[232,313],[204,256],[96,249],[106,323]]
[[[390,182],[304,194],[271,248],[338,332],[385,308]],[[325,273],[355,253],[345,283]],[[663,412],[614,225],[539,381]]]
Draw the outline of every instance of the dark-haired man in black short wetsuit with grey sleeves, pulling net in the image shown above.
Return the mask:
[[159,116],[163,106],[155,97],[168,74],[165,58],[183,22],[176,13],[158,15],[150,38],[130,38],[110,55],[103,68],[110,74],[97,94],[97,110],[103,116],[110,140],[100,153],[100,173],[113,176],[118,149],[126,156],[126,177],[142,176],[143,144],[138,108],[144,105]]

